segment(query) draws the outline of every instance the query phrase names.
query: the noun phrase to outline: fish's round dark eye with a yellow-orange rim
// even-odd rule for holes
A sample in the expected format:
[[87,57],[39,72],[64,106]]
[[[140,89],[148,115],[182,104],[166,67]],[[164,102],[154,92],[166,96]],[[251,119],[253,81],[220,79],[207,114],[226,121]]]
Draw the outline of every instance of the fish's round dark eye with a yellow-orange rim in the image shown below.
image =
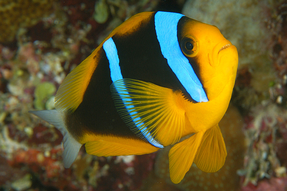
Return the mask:
[[191,35],[186,35],[182,38],[180,47],[183,54],[188,57],[193,57],[198,52],[198,42]]

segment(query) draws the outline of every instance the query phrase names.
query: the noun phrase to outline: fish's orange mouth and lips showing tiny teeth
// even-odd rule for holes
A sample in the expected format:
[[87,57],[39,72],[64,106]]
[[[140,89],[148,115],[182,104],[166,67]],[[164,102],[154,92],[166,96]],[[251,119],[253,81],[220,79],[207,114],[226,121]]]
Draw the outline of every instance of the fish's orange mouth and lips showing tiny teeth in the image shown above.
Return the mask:
[[220,53],[224,52],[226,49],[232,47],[234,45],[231,44],[229,40],[222,40],[217,43],[212,51],[208,54],[209,62],[211,66],[218,66],[220,60]]

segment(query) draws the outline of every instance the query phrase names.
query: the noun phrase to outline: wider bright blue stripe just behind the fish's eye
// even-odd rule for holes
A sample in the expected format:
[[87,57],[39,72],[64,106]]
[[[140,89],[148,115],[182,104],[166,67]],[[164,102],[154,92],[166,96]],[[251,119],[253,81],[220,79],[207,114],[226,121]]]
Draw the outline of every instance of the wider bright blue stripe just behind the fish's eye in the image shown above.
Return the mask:
[[207,102],[208,98],[202,84],[188,59],[181,52],[177,40],[177,23],[183,16],[179,13],[158,11],[154,16],[156,36],[162,55],[192,99]]

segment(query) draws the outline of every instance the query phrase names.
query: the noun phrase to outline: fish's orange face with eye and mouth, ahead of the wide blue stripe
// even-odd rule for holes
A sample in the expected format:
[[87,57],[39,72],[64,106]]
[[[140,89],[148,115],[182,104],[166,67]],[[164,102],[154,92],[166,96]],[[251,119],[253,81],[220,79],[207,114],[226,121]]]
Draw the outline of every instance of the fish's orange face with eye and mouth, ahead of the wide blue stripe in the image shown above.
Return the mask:
[[210,101],[226,84],[232,84],[233,88],[238,65],[237,49],[216,26],[186,18],[178,30],[179,45]]

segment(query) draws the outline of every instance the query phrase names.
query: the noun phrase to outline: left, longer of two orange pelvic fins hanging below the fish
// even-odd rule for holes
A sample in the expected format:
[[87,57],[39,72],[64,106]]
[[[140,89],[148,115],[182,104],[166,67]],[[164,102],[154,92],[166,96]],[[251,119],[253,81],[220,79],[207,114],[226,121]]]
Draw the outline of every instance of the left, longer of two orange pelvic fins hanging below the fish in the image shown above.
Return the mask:
[[190,169],[203,134],[204,131],[199,131],[170,149],[168,153],[169,172],[174,184],[179,183]]

